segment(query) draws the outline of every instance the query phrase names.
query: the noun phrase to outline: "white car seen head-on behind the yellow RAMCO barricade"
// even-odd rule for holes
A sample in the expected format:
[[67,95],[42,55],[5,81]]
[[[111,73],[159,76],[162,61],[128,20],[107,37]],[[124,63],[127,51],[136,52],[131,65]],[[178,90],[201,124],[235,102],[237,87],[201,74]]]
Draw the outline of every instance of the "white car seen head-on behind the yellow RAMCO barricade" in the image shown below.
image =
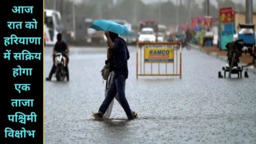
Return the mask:
[[156,35],[154,35],[154,29],[152,28],[143,28],[140,31],[139,42],[156,42]]

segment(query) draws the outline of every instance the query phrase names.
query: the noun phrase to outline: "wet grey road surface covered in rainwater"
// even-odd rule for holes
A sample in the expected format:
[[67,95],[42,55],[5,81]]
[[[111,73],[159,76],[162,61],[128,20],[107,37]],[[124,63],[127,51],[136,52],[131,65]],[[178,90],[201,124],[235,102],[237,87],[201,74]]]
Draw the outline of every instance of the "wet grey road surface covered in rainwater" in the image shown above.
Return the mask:
[[[126,97],[137,120],[115,101],[108,122],[93,120],[104,100],[100,70],[105,48],[75,48],[70,53],[70,82],[45,82],[45,143],[256,143],[256,77],[218,79],[225,64],[184,49],[182,79],[136,79],[136,49],[129,47]],[[52,65],[45,48],[45,76]]]

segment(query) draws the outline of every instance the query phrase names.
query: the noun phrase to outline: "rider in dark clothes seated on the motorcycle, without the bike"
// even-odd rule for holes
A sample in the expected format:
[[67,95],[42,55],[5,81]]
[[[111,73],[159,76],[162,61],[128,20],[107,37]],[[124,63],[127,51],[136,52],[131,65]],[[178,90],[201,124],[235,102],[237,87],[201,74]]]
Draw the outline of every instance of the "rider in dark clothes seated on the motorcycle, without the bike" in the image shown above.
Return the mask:
[[55,54],[57,52],[61,52],[62,54],[64,53],[64,57],[67,60],[66,61],[66,67],[65,67],[66,78],[67,78],[67,81],[70,81],[70,75],[69,75],[69,72],[68,72],[68,61],[69,61],[68,53],[70,52],[70,50],[69,50],[68,45],[64,41],[62,41],[62,34],[61,33],[58,33],[58,35],[57,35],[57,42],[56,42],[56,44],[54,45],[54,48],[53,48],[53,67],[50,71],[49,77],[46,78],[46,81],[51,81],[51,78],[53,77],[53,73],[56,70],[56,66],[54,65],[54,58],[55,58]]

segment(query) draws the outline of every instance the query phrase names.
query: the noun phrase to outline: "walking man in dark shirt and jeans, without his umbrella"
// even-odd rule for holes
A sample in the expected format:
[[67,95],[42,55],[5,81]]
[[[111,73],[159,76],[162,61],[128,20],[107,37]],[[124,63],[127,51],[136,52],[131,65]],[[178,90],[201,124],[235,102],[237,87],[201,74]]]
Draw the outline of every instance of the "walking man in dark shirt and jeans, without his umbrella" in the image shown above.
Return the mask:
[[112,64],[110,65],[110,69],[112,71],[114,70],[114,76],[113,81],[110,82],[106,98],[102,102],[102,105],[100,105],[98,113],[93,113],[93,116],[96,120],[102,120],[108,106],[117,94],[119,103],[123,107],[128,120],[133,120],[135,117],[133,117],[129,103],[125,98],[125,81],[128,78],[127,60],[130,58],[129,51],[125,41],[121,37],[118,37],[116,33],[106,31],[105,35],[112,54],[110,57],[110,64]]

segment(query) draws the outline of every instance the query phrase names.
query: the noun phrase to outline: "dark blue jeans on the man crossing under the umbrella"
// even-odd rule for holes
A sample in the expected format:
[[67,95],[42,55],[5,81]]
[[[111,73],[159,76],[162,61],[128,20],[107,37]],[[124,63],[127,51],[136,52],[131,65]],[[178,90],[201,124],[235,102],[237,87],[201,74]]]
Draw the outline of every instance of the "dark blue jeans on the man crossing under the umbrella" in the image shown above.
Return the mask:
[[108,106],[110,105],[111,101],[115,98],[116,94],[118,94],[119,102],[121,106],[125,110],[125,113],[129,120],[133,119],[131,114],[131,109],[127,99],[125,98],[125,76],[124,75],[117,75],[116,79],[110,83],[110,88],[108,89],[108,94],[104,99],[103,103],[100,105],[100,109],[98,113],[104,115]]

